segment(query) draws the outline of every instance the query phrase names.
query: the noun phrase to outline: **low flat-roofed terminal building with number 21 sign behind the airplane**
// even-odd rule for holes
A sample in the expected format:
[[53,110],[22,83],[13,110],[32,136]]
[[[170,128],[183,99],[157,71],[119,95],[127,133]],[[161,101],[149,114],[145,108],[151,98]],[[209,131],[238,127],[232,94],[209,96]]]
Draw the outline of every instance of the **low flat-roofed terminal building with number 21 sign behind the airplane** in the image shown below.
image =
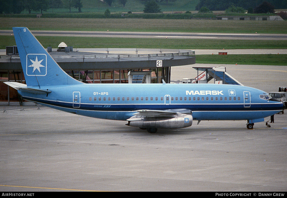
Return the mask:
[[[59,66],[84,83],[170,82],[173,66],[195,64],[195,52],[175,49],[73,49],[63,43],[47,51]],[[0,55],[0,101],[19,101],[17,91],[3,82],[25,83],[17,47],[6,47]],[[129,76],[130,75],[130,76]],[[9,97],[8,97],[9,96]]]

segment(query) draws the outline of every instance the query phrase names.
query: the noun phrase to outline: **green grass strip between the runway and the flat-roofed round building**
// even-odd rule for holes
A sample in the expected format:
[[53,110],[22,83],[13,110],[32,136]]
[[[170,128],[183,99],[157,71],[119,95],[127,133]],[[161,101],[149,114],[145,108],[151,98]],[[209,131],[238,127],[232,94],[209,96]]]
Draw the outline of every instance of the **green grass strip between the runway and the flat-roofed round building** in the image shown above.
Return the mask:
[[[103,37],[37,36],[42,45],[57,48],[65,42],[74,48],[162,48],[162,49],[287,49],[287,41],[221,39],[138,39]],[[15,45],[14,36],[0,36],[0,49]]]

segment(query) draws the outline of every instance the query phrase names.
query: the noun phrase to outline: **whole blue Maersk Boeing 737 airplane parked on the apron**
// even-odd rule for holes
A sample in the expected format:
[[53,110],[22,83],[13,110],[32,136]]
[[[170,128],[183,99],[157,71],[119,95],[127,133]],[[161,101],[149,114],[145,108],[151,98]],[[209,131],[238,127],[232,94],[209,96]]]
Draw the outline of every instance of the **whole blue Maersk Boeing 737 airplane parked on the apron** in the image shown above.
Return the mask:
[[155,133],[193,120],[247,120],[247,128],[286,104],[264,91],[227,84],[85,84],[65,73],[25,27],[13,28],[26,84],[5,82],[23,99],[73,114],[125,120]]

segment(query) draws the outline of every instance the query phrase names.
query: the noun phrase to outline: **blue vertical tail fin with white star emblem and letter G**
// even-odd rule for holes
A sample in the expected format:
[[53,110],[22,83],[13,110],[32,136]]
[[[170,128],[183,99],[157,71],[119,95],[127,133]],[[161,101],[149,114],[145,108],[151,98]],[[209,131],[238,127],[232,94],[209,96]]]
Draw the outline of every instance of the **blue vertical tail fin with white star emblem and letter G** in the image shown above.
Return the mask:
[[81,84],[60,68],[28,28],[13,28],[27,86]]

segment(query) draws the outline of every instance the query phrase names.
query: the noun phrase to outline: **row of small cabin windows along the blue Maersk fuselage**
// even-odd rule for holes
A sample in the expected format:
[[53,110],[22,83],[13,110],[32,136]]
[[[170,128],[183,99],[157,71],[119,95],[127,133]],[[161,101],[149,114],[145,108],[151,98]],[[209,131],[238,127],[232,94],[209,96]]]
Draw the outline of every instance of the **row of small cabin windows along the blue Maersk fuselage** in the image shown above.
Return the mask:
[[[97,97],[94,97],[94,101],[96,101],[96,100],[101,101],[102,99],[103,99],[104,101],[106,101],[107,98],[106,98],[106,97],[103,97],[103,98],[102,98],[102,97],[98,97],[98,98],[97,98]],[[127,101],[129,101],[130,99],[131,99],[131,101],[134,101],[134,100],[141,100],[141,101],[143,101],[143,100],[144,100],[144,97],[140,97],[140,98],[139,98],[139,97],[131,97],[131,98],[130,98],[130,97],[126,97],[126,98],[125,98],[125,97],[122,97],[122,98],[121,98],[121,97],[117,97],[117,98],[116,98],[116,97],[113,97],[113,98],[108,97],[108,101],[110,101],[110,100],[113,100],[113,101],[115,101],[115,100],[117,100],[117,101],[127,100]],[[166,99],[166,101],[169,101],[169,97],[166,97],[165,99]],[[188,98],[187,98],[187,97],[170,97],[170,99],[171,99],[172,101],[173,101],[174,99],[175,99],[176,101],[177,101],[177,100],[187,100],[187,99],[188,99],[189,101],[191,101],[191,100],[193,100],[193,101],[195,101],[195,100],[203,100],[203,101],[204,101],[204,100],[207,100],[207,101],[208,101],[208,100],[211,100],[211,101],[213,101],[213,100],[216,100],[216,101],[217,101],[217,100],[225,100],[225,101],[227,101],[227,100],[230,100],[230,101],[231,101],[231,100],[234,100],[234,101],[235,101],[235,100],[236,100],[236,97],[228,97],[228,98],[227,98],[227,97],[224,97],[224,98],[223,98],[223,97],[188,97]],[[92,101],[92,97],[90,97],[89,100]],[[145,97],[145,100],[148,101],[148,97]],[[155,98],[154,98],[154,97],[150,97],[150,101],[153,101],[153,100],[157,101],[157,100],[158,100],[158,97],[155,97]],[[164,100],[164,97],[160,97],[160,100],[163,101],[163,100]],[[237,100],[240,100],[240,97],[237,97]]]

